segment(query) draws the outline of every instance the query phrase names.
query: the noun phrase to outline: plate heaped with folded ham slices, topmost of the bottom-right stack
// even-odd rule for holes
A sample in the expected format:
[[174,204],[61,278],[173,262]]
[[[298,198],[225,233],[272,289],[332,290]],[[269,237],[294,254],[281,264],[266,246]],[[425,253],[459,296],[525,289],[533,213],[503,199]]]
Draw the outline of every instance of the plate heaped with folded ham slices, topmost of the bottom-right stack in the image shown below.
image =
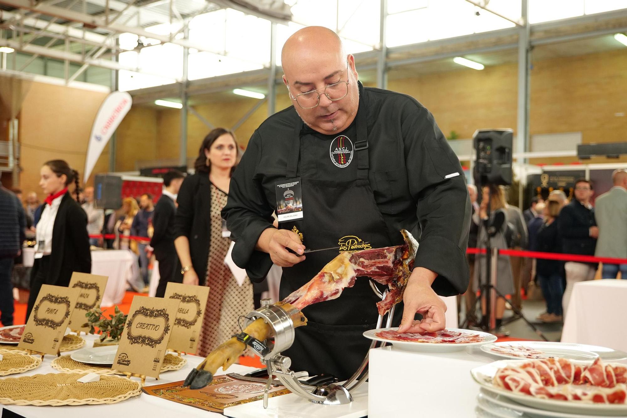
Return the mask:
[[500,360],[473,368],[484,389],[522,405],[569,414],[627,415],[627,366],[566,358]]

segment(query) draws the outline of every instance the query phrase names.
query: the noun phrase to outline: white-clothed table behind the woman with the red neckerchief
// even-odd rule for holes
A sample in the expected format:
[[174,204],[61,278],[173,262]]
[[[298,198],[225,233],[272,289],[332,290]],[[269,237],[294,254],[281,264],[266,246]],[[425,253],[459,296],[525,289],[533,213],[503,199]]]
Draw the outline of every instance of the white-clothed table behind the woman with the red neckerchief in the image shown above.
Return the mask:
[[[25,267],[33,267],[34,248],[23,249]],[[92,274],[107,276],[107,287],[102,296],[101,306],[113,306],[122,303],[128,282],[139,275],[137,255],[131,250],[93,250]]]

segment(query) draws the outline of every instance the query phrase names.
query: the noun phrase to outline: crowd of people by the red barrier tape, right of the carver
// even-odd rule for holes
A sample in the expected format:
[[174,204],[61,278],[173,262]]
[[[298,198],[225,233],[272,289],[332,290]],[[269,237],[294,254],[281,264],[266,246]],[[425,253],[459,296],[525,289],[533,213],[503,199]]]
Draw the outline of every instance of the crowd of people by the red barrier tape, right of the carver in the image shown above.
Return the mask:
[[[507,204],[499,186],[482,188],[481,204],[477,203],[476,186],[468,185],[472,201],[473,223],[470,226],[468,247],[529,249],[537,252],[596,257],[627,258],[627,170],[617,169],[612,174],[613,188],[594,201],[593,183],[584,178],[576,180],[574,196],[567,199],[562,190],[553,190],[546,201],[532,198],[524,213]],[[490,213],[488,215],[488,202]],[[481,285],[487,284],[487,255],[469,254],[471,278],[465,293],[466,316],[479,324],[475,316],[475,301]],[[529,291],[533,282],[542,289],[546,311],[537,317],[544,323],[561,323],[567,313],[572,288],[577,282],[593,280],[599,263],[530,259],[498,255],[494,307],[497,334],[508,335],[502,326],[507,301],[520,309],[522,292]],[[615,279],[618,272],[627,279],[627,264],[603,264],[601,277]],[[485,313],[485,295],[482,294],[482,313]],[[486,316],[482,316],[487,321]],[[482,324],[483,325],[483,324]]]

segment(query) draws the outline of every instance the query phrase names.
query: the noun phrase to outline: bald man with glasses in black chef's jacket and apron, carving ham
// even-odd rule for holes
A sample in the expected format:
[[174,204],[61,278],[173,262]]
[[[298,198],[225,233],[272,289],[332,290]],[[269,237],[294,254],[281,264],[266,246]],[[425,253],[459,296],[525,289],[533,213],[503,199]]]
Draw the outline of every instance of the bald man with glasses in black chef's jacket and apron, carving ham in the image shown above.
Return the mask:
[[[365,88],[329,29],[297,31],[283,46],[282,65],[292,106],[251,137],[222,212],[236,242],[233,260],[253,281],[273,262],[283,267],[283,298],[338,254],[305,256],[305,248],[399,245],[405,228],[420,247],[394,323],[403,311],[401,331],[443,329],[446,306],[437,294],[468,285],[471,209],[460,163],[433,116],[407,95]],[[360,278],[337,299],[303,309],[307,326],[285,351],[293,369],[352,375],[369,348],[362,333],[376,326],[377,300]],[[423,321],[414,321],[417,312]]]

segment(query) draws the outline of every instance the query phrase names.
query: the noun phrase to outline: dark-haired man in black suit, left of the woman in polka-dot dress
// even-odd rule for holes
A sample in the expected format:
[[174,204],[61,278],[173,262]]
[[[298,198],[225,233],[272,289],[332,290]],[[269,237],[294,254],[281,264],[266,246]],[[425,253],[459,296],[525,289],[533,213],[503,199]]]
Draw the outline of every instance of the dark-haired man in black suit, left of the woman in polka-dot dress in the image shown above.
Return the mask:
[[168,171],[163,176],[165,186],[163,194],[152,215],[152,239],[150,246],[154,249],[154,255],[159,262],[159,286],[155,296],[163,297],[166,294],[167,282],[181,283],[183,276],[179,274],[179,257],[174,248],[174,215],[176,215],[176,197],[185,178],[184,174],[177,170]]

